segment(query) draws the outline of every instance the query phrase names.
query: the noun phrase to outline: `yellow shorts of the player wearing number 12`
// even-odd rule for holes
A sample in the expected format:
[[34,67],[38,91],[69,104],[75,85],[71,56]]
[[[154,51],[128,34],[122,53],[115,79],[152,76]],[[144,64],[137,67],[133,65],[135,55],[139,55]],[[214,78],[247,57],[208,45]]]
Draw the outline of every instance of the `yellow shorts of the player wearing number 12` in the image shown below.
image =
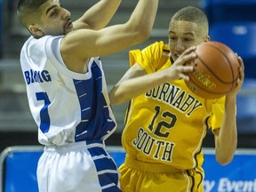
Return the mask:
[[164,164],[147,164],[126,156],[119,167],[123,192],[203,192],[204,170],[179,170]]

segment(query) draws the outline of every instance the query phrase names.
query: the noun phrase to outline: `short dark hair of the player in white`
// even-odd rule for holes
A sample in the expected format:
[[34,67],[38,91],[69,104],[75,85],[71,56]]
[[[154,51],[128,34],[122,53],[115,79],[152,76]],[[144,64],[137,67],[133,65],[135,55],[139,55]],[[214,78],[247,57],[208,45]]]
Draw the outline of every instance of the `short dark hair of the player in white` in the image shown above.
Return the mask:
[[18,16],[21,24],[28,28],[28,19],[31,18],[31,14],[35,13],[38,8],[44,4],[47,0],[20,0],[18,4]]

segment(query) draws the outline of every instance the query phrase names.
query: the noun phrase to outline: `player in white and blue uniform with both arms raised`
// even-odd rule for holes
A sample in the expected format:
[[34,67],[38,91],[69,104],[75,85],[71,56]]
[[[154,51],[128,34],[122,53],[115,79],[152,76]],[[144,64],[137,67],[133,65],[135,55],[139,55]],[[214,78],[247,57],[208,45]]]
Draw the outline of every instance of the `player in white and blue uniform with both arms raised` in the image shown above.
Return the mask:
[[31,33],[20,63],[45,146],[37,166],[40,192],[120,191],[104,144],[116,120],[99,56],[146,40],[158,0],[139,0],[126,23],[106,27],[120,3],[100,0],[72,22],[59,0],[19,2],[20,22]]

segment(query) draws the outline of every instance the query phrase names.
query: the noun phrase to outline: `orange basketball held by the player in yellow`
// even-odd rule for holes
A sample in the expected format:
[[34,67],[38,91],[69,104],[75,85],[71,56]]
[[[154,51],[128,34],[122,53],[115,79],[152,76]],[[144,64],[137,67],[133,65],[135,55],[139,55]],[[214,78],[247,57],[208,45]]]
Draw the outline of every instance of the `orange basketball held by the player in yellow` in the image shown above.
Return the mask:
[[196,60],[188,73],[188,88],[204,99],[218,99],[231,92],[239,76],[239,61],[226,44],[206,42],[196,47]]

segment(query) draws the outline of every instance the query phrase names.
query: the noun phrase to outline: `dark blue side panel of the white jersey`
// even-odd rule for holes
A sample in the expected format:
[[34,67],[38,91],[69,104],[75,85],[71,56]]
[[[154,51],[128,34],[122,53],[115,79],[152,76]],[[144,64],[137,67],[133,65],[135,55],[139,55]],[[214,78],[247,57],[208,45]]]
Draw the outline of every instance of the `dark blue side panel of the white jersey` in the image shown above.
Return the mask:
[[116,127],[109,116],[109,108],[102,93],[102,72],[95,61],[91,70],[91,78],[74,80],[81,108],[81,122],[76,126],[76,141],[100,140]]

